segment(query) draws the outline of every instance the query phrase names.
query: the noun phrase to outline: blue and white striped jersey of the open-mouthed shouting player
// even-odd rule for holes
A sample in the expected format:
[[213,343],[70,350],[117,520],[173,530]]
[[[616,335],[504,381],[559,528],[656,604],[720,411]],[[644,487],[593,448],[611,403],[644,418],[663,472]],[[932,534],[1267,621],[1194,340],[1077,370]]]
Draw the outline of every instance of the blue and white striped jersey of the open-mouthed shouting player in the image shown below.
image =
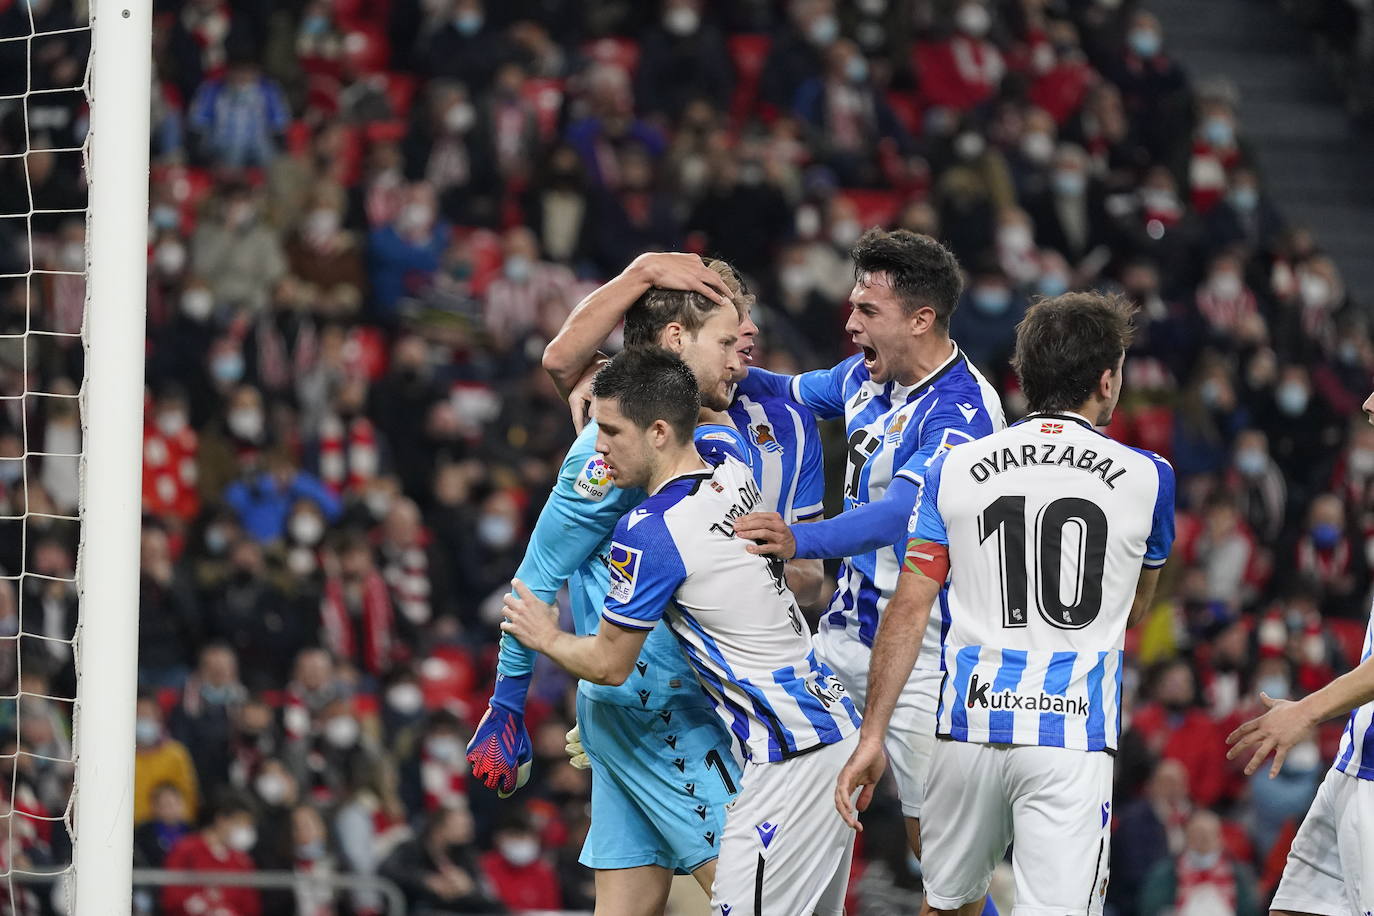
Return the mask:
[[[760,397],[776,394],[782,383],[793,400],[816,416],[845,419],[846,511],[881,500],[894,478],[919,485],[943,450],[1006,426],[998,393],[958,346],[934,372],[910,386],[878,385],[868,378],[863,356],[855,354],[831,369],[802,372],[790,379],[750,369],[741,390]],[[904,547],[897,542],[845,558],[820,629],[845,630],[871,647],[882,608],[897,588]],[[940,630],[932,628],[916,666],[936,667],[938,651]]]

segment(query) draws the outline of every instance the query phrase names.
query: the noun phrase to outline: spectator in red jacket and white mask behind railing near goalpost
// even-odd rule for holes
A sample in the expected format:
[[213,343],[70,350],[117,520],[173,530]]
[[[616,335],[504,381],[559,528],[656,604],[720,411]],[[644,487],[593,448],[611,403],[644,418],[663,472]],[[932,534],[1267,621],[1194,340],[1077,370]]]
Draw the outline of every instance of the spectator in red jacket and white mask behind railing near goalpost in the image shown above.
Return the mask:
[[[251,872],[249,851],[257,845],[253,808],[238,792],[224,791],[210,808],[209,824],[172,847],[166,867],[173,871]],[[258,891],[251,887],[166,887],[162,912],[168,916],[206,916],[213,912],[260,916]]]

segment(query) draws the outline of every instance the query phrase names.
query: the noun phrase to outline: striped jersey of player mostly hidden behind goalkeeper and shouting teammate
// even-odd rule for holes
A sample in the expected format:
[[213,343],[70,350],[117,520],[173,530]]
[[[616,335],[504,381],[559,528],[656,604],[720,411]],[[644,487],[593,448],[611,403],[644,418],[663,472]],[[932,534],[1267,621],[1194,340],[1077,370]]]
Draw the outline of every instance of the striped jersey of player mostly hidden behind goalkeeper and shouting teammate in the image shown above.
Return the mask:
[[736,394],[730,419],[743,434],[764,505],[787,523],[824,511],[826,468],[816,417],[791,398]]

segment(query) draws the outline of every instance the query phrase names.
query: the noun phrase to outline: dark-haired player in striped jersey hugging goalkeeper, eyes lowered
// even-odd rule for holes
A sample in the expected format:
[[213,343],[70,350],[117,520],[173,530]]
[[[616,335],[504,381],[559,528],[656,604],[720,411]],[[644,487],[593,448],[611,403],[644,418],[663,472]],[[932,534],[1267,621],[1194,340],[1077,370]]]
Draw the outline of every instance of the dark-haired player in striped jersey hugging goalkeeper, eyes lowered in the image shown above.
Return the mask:
[[827,790],[859,715],[816,661],[782,562],[735,537],[734,520],[763,500],[753,474],[735,457],[710,467],[698,455],[697,386],[666,352],[620,354],[596,375],[592,398],[596,450],[616,486],[650,493],[616,526],[600,626],[583,637],[559,630],[556,611],[517,580],[502,629],[581,678],[620,684],[666,619],[747,761],[713,911],[842,913],[853,834]]

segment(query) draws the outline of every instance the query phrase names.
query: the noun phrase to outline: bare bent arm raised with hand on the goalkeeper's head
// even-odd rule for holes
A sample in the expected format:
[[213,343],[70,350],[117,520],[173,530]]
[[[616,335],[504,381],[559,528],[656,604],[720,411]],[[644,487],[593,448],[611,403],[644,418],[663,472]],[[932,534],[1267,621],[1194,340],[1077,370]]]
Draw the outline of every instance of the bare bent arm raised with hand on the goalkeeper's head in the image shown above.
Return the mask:
[[695,291],[721,305],[731,305],[724,279],[695,254],[654,251],[639,255],[617,277],[578,302],[558,336],[544,347],[544,371],[552,376],[563,397],[577,387],[596,356],[596,347],[650,287]]

